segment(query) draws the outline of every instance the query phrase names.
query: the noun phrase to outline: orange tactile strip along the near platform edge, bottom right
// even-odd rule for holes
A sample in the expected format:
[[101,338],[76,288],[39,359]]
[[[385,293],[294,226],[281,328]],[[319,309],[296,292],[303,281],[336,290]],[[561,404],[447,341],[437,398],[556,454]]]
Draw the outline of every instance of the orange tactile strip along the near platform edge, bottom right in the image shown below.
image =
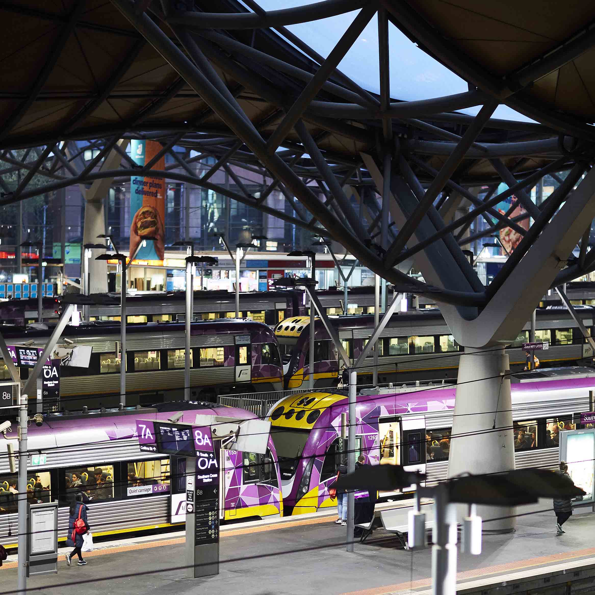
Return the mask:
[[[485,568],[475,568],[473,570],[466,570],[458,572],[456,575],[457,581],[464,581],[469,578],[486,577],[490,574],[508,573],[523,568],[531,568],[531,566],[543,566],[555,562],[563,562],[564,560],[571,560],[573,558],[583,558],[584,556],[595,555],[595,547],[587,547],[584,550],[575,550],[574,552],[562,552],[557,554],[550,554],[549,556],[539,556],[538,558],[529,558],[527,560],[518,560],[518,562],[506,562],[504,564],[496,564],[494,566],[486,566]],[[386,585],[384,587],[374,587],[364,589],[362,591],[350,591],[342,595],[389,595],[398,593],[399,591],[409,591],[415,588],[430,587],[432,581],[430,578],[421,578],[417,581],[407,581],[406,583],[398,583],[394,585]]]

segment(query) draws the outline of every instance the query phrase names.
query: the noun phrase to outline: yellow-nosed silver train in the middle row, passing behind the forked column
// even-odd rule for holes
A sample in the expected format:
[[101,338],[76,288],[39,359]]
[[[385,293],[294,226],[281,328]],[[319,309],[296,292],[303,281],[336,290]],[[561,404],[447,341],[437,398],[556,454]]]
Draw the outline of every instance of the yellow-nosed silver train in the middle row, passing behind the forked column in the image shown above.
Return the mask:
[[[591,333],[592,306],[577,306],[583,324]],[[355,361],[374,330],[370,315],[331,318],[351,361]],[[525,367],[522,343],[529,342],[530,322],[508,348],[512,371]],[[284,385],[297,389],[308,380],[310,318],[286,318],[275,327],[284,364]],[[337,386],[342,361],[321,320],[315,321],[314,381],[317,388]],[[549,343],[537,353],[541,367],[592,365],[593,350],[566,308],[537,310],[536,341]],[[456,378],[460,354],[446,321],[436,308],[393,314],[378,340],[378,381],[442,380]],[[374,357],[370,355],[358,369],[358,384],[371,384]]]

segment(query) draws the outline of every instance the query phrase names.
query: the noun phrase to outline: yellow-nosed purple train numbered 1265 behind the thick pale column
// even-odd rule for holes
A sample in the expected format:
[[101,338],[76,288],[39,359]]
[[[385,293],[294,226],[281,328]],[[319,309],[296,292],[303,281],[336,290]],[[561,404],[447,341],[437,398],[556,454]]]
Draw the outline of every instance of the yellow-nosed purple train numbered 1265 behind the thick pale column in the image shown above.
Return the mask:
[[[511,376],[516,469],[558,465],[559,431],[583,428],[580,414],[588,410],[589,390],[594,387],[591,368]],[[455,392],[455,386],[431,383],[363,390],[356,405],[356,457],[364,455],[371,465],[403,465],[408,471],[425,472],[430,483],[446,479]],[[328,489],[346,460],[341,415],[348,407],[346,393],[320,391],[286,397],[271,408],[268,419],[286,514],[336,506]],[[486,428],[490,430],[491,423]],[[592,456],[585,453],[585,458]],[[592,496],[592,480],[580,487]]]

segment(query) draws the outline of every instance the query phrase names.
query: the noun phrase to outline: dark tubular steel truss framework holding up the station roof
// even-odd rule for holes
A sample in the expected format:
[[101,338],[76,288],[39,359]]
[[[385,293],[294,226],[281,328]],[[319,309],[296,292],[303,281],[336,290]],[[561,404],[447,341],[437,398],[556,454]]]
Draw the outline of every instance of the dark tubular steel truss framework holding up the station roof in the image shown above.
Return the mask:
[[[486,307],[544,230],[556,226],[560,207],[572,202],[575,187],[591,168],[595,131],[589,117],[580,106],[548,104],[538,90],[544,78],[588,55],[595,35],[590,26],[577,27],[541,54],[525,57],[521,67],[511,62],[496,75],[457,43],[447,42],[415,6],[323,0],[267,12],[254,0],[111,0],[100,10],[96,2],[80,0],[65,12],[49,12],[20,2],[0,5],[8,27],[11,20],[30,19],[53,32],[30,86],[0,93],[0,205],[71,184],[121,183],[148,174],[169,154],[175,162],[163,171],[151,170],[151,176],[214,190],[330,237],[397,290],[431,294],[473,317],[471,311]],[[356,11],[352,23],[326,58],[287,29],[350,11]],[[378,95],[337,68],[374,17]],[[452,68],[468,81],[469,90],[422,101],[391,98],[389,26]],[[114,57],[92,54],[84,36],[105,45],[117,40]],[[92,72],[90,85],[75,84],[68,76],[64,85],[57,84],[73,40],[80,55],[70,57],[71,70]],[[129,84],[133,79],[136,83]],[[492,118],[500,104],[537,123]],[[476,106],[475,116],[457,112]],[[145,167],[118,145],[120,139],[139,137],[162,143]],[[75,143],[81,139],[91,140],[86,149],[98,149],[90,161]],[[186,154],[174,146],[186,148]],[[17,158],[15,149],[24,149],[23,155]],[[114,151],[120,155],[118,166],[102,167]],[[215,164],[198,174],[192,164],[206,156],[213,156]],[[251,194],[230,165],[261,174],[269,180],[267,187]],[[212,183],[220,168],[238,192]],[[20,182],[10,189],[2,176],[17,170]],[[531,188],[560,172],[565,177],[558,189],[540,205],[532,202]],[[32,180],[41,177],[43,183],[33,187]],[[509,189],[496,194],[501,181]],[[485,185],[490,192],[478,199],[473,189]],[[275,189],[294,215],[267,206]],[[515,198],[508,212],[498,211],[496,205],[510,196]],[[472,208],[454,218],[462,199]],[[512,217],[516,206],[525,212]],[[466,236],[477,218],[488,228]],[[526,220],[528,230],[519,225]],[[552,287],[595,270],[595,252],[588,250],[590,222],[583,221],[575,239],[578,258],[558,255],[562,265]],[[486,289],[465,246],[505,227],[523,239]],[[402,272],[406,262],[421,255],[434,270],[442,270],[431,283]]]

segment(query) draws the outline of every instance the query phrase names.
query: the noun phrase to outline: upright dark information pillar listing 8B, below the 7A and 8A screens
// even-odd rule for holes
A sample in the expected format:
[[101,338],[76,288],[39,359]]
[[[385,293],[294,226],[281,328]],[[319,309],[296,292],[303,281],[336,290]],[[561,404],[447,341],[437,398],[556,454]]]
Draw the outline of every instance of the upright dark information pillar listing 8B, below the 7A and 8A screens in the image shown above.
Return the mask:
[[219,458],[196,450],[186,458],[187,577],[219,574]]

